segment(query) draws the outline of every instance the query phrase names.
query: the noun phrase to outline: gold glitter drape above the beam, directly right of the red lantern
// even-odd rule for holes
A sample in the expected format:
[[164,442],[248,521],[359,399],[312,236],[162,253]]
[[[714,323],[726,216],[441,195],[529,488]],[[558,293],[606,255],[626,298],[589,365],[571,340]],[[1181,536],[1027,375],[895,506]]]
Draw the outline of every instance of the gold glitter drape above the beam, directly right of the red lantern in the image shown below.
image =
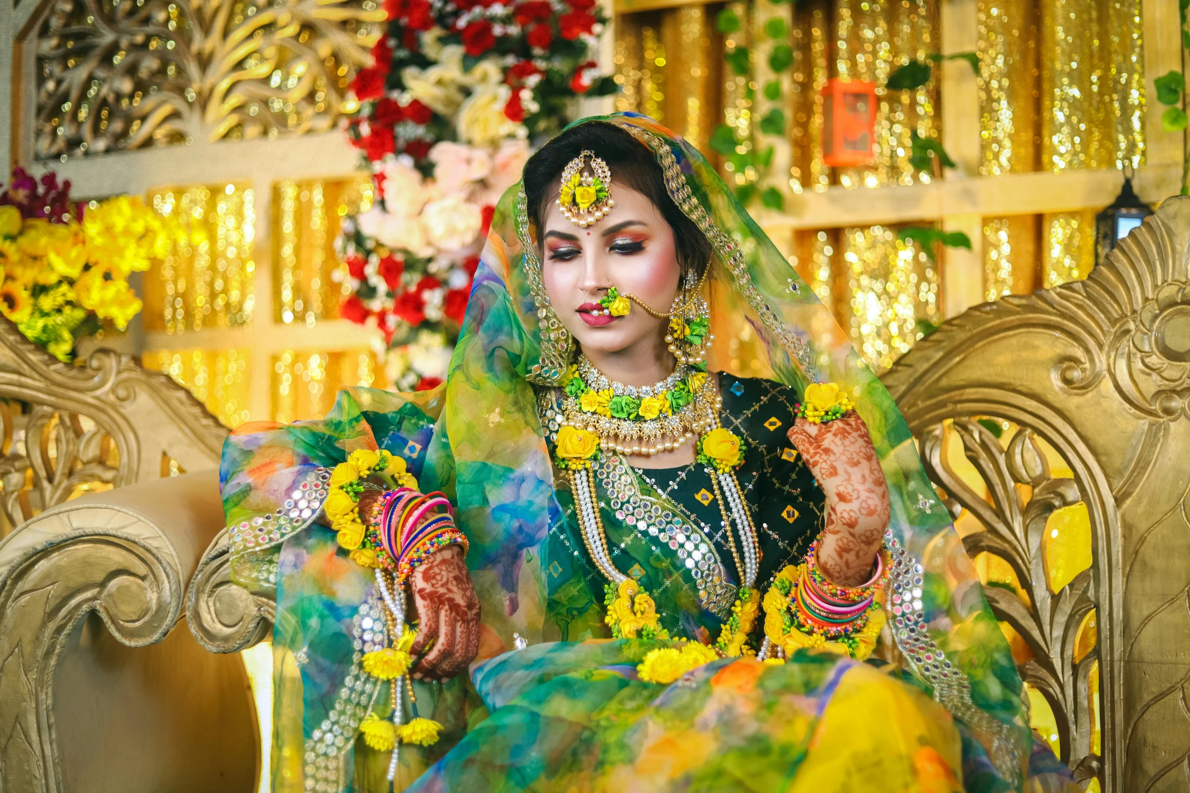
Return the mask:
[[910,134],[939,137],[937,81],[914,90],[889,90],[889,75],[909,61],[938,52],[938,21],[931,0],[835,0],[834,69],[843,80],[876,83],[876,164],[838,169],[844,187],[929,182],[909,163]]

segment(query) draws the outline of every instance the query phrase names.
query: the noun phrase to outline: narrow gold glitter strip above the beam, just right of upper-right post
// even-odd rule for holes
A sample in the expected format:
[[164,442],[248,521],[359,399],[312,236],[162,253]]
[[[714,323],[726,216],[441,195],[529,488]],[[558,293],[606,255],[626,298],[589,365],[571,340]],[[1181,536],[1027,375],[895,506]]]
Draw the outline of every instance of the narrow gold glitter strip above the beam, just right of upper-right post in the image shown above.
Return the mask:
[[979,0],[979,172],[1038,168],[1038,8],[1034,0]]

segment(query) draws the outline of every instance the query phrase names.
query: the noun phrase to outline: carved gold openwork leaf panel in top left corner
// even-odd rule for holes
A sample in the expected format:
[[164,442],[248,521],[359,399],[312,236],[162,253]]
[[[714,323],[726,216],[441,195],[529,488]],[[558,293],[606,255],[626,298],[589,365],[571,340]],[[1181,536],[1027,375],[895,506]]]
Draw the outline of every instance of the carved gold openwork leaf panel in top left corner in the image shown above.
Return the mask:
[[375,0],[55,0],[36,155],[331,130],[383,19]]

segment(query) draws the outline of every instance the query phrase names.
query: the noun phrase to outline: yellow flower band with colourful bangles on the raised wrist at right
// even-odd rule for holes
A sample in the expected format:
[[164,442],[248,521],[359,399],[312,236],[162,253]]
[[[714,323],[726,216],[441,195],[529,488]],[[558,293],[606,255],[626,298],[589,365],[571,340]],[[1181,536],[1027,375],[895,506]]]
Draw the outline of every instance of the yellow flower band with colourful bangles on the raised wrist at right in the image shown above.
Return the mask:
[[871,655],[884,628],[877,596],[888,569],[887,552],[881,548],[865,584],[838,586],[818,569],[820,540],[810,545],[803,564],[781,571],[764,596],[764,632],[787,656],[804,647],[862,661]]

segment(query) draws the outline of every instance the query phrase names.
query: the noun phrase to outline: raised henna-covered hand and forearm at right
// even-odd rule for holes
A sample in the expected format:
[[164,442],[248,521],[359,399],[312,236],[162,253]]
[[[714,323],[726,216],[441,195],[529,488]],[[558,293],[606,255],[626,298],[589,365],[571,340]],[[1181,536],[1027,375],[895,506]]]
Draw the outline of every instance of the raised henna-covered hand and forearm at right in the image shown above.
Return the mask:
[[819,424],[798,417],[789,441],[826,496],[819,569],[841,586],[863,584],[891,515],[888,483],[868,426],[854,410]]

